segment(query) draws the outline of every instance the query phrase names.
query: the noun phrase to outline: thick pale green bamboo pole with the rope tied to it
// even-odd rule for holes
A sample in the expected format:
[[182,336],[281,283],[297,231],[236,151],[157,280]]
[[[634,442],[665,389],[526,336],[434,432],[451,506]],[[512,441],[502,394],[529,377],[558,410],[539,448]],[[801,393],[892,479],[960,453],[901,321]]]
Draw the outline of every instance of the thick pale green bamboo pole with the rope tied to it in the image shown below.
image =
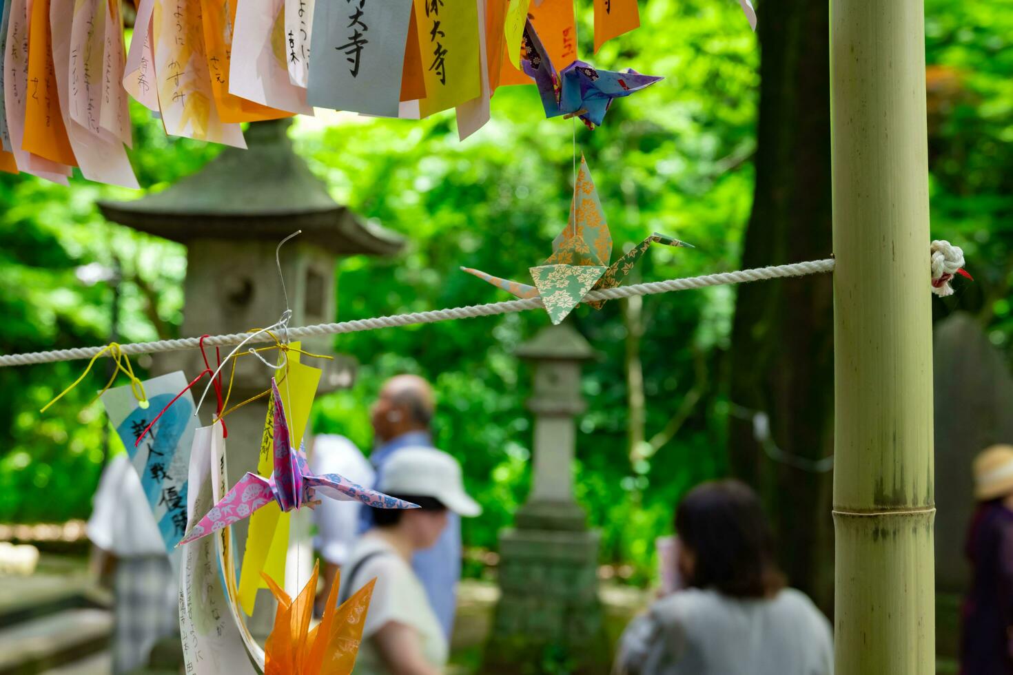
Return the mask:
[[839,675],[935,672],[923,0],[832,0]]

